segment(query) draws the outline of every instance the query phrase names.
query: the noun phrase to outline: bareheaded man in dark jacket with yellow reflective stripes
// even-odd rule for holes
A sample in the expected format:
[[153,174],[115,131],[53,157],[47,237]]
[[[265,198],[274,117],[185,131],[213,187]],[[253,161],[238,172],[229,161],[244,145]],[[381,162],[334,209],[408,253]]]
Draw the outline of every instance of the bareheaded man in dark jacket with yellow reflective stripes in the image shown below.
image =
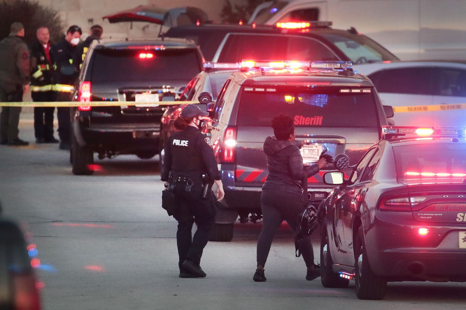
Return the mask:
[[[37,40],[29,45],[31,57],[31,97],[34,102],[55,101],[52,85],[54,61],[50,52],[50,33],[47,27],[37,29]],[[58,143],[54,138],[54,107],[34,107],[34,135],[36,143]]]

